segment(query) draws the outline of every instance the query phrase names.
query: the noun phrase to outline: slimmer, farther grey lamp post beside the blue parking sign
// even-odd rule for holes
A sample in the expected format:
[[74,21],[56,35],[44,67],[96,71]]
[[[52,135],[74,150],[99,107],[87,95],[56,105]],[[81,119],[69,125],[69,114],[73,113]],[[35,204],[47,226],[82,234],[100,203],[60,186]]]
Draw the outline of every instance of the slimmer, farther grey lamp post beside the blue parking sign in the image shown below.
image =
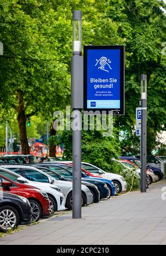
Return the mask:
[[141,75],[141,192],[147,191],[147,75]]

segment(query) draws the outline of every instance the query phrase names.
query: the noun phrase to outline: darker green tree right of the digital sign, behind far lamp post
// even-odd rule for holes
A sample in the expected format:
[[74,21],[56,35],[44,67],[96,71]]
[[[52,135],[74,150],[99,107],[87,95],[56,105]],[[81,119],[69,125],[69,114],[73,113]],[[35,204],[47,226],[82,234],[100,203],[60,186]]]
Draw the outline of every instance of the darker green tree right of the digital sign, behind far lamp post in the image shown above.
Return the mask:
[[[126,146],[129,145],[136,119],[135,108],[139,106],[140,76],[147,73],[148,154],[158,145],[157,132],[166,127],[166,57],[162,55],[166,16],[160,7],[166,7],[163,1],[110,0],[106,10],[107,16],[118,25],[118,35],[126,45],[126,113],[116,119],[116,127],[128,131],[128,140],[125,140]],[[137,144],[137,140],[133,137],[131,146]]]

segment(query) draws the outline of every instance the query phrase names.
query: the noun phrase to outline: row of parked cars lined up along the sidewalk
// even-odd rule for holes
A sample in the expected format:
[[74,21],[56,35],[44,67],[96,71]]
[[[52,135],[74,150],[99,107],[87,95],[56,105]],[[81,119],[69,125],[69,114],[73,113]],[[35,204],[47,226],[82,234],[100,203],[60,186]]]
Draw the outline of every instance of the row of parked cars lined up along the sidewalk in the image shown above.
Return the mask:
[[[72,161],[37,163],[32,155],[7,155],[0,164],[0,232],[72,209]],[[121,175],[84,162],[81,168],[82,206],[127,190]]]

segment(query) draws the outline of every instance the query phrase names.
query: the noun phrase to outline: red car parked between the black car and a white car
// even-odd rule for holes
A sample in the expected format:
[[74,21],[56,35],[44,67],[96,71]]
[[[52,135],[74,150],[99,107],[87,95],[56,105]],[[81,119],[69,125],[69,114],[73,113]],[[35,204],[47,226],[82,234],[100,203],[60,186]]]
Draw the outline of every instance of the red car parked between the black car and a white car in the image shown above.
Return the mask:
[[38,221],[41,217],[50,215],[50,201],[48,195],[42,190],[12,181],[1,174],[0,190],[27,198],[32,207],[32,221]]

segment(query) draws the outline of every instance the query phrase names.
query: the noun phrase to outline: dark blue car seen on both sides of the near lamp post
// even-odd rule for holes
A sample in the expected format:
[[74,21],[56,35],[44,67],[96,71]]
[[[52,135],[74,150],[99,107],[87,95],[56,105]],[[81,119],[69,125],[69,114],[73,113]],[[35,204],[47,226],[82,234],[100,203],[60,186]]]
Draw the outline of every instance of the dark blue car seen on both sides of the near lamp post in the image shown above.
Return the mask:
[[[45,165],[43,166],[41,165],[35,165],[36,168],[38,168],[39,170],[44,171],[44,173],[49,174],[50,176],[52,176],[55,179],[63,179],[63,180],[72,180],[72,172],[66,170],[65,168],[56,165],[55,168],[51,168],[53,167],[52,165],[49,167],[49,165]],[[57,170],[57,171],[56,171]],[[60,173],[59,173],[60,170]],[[82,174],[82,177],[84,177],[84,175]],[[107,199],[110,198],[111,193],[110,190],[108,189],[107,185],[102,182],[102,181],[97,181],[94,179],[84,179],[82,178],[82,184],[86,183],[85,185],[90,189],[89,187],[89,183],[97,186],[97,190],[99,191],[99,199]],[[90,189],[91,191],[91,189]],[[91,191],[91,193],[94,195],[93,191]],[[96,193],[95,193],[96,194]],[[98,202],[98,196],[96,194],[95,199],[93,200],[94,203]]]

